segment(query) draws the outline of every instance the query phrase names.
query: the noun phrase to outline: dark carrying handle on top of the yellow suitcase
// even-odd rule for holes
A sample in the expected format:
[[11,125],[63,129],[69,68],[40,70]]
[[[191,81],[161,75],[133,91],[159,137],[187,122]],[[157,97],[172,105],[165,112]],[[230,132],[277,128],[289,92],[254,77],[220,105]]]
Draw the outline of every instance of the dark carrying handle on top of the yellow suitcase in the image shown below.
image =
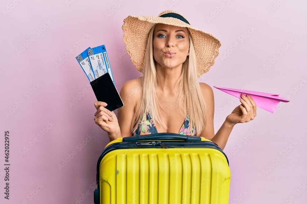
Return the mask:
[[176,133],[170,132],[161,132],[155,134],[148,134],[148,135],[135,135],[130,137],[123,137],[123,142],[138,142],[142,140],[185,140],[185,141],[200,141],[201,138],[197,136],[190,136],[190,135],[181,135]]

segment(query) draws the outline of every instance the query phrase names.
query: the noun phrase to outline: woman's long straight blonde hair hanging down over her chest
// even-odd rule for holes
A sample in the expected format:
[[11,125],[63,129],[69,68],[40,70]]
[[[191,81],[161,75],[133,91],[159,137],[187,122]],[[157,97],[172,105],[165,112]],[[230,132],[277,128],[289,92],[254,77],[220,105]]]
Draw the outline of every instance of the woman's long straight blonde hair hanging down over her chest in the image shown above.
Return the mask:
[[[142,125],[145,125],[145,133],[147,132],[146,126],[146,111],[150,110],[150,115],[155,123],[160,124],[164,128],[166,128],[165,124],[161,120],[161,105],[157,97],[156,87],[158,84],[158,78],[156,73],[156,64],[153,58],[153,32],[156,28],[157,24],[155,24],[149,34],[148,34],[148,41],[145,51],[145,60],[143,66],[143,73],[144,76],[142,77],[142,96],[141,101],[137,104],[133,123],[131,126],[132,132],[138,128],[138,122]],[[197,71],[196,71],[196,55],[192,43],[192,38],[190,33],[188,33],[189,40],[190,40],[190,49],[189,49],[189,56],[182,64],[182,72],[181,76],[178,80],[179,87],[178,87],[178,95],[177,101],[183,101],[185,104],[181,106],[179,103],[179,108],[187,107],[190,127],[189,133],[192,135],[192,127],[196,127],[198,133],[202,132],[205,127],[206,123],[206,113],[207,107],[202,96],[200,85],[197,78]],[[181,100],[179,100],[181,99]]]

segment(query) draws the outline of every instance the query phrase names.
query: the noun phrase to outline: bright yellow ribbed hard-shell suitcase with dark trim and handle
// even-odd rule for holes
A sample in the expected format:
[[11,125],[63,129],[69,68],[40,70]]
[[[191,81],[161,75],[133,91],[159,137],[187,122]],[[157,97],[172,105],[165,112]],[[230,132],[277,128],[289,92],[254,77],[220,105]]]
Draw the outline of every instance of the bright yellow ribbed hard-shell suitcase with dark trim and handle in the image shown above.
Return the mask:
[[110,142],[97,163],[95,204],[228,204],[230,169],[202,137],[157,133]]

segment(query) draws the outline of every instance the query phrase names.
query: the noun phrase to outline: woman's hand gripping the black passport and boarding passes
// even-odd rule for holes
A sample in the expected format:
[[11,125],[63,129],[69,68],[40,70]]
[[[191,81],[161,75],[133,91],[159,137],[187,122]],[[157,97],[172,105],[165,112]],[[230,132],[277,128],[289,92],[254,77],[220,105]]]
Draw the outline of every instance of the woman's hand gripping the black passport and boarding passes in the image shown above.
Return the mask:
[[94,117],[95,123],[106,131],[109,137],[115,135],[120,130],[115,113],[105,108],[107,106],[105,102],[96,101],[94,106],[97,109]]

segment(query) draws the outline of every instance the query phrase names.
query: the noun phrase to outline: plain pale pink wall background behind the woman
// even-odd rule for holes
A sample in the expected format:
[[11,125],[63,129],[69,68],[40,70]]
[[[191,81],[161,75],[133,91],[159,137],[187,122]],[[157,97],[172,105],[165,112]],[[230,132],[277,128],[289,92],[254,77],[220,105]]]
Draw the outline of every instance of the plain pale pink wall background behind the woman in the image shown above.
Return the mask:
[[[224,150],[231,168],[229,203],[305,203],[306,6],[282,0],[1,1],[0,202],[70,204],[81,197],[81,203],[93,203],[96,164],[109,139],[94,123],[95,95],[75,57],[105,44],[120,90],[140,76],[122,42],[123,19],[173,9],[222,43],[215,65],[199,79],[215,94],[215,132],[240,102],[213,86],[290,99],[274,114],[258,108],[255,120],[235,125]],[[57,67],[60,59],[65,61]],[[74,97],[80,100],[71,106]],[[6,115],[11,108],[16,110]],[[10,200],[3,194],[5,131]]]

